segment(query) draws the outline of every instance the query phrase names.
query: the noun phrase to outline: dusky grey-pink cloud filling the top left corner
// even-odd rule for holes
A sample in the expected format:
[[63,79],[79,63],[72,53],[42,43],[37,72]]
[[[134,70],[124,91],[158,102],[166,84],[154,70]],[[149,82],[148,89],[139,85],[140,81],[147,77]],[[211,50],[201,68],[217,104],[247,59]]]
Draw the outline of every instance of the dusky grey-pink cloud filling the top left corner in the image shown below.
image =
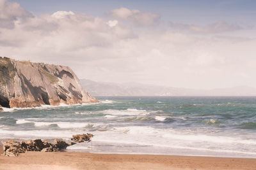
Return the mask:
[[32,13],[24,10],[18,3],[0,0],[0,27],[13,29],[15,22],[33,17]]

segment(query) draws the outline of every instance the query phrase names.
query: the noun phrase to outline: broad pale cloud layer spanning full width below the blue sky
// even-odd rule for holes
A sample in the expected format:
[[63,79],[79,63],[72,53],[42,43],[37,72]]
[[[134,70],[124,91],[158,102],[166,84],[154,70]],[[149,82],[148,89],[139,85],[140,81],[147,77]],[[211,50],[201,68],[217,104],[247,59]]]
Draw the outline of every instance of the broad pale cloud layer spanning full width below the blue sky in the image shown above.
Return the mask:
[[[3,1],[0,2],[3,9]],[[224,29],[225,24],[211,26],[214,29],[203,27],[206,31],[201,32],[223,32],[221,36],[211,36],[194,34],[195,29],[190,28],[186,33],[170,27],[132,29],[122,19],[135,22],[131,16],[141,12],[118,12],[120,20],[70,11],[57,11],[57,18],[53,14],[33,16],[26,10],[16,17],[8,14],[6,20],[12,23],[12,29],[0,27],[0,55],[67,65],[80,78],[96,81],[139,81],[195,88],[243,83],[256,86],[256,40],[243,38],[243,30],[226,35],[223,31],[230,33],[232,29]]]

